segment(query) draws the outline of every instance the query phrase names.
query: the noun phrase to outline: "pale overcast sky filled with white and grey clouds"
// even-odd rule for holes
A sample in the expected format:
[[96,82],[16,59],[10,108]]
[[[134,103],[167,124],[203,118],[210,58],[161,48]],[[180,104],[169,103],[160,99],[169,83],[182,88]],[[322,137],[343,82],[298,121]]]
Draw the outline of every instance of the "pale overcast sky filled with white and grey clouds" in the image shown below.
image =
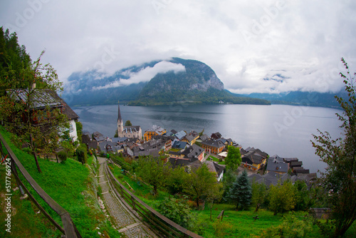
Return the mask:
[[[64,83],[180,57],[206,63],[233,93],[335,93],[340,58],[356,68],[355,13],[352,0],[3,0],[0,26],[32,59],[45,50]],[[184,69],[164,61],[127,82],[168,70]]]

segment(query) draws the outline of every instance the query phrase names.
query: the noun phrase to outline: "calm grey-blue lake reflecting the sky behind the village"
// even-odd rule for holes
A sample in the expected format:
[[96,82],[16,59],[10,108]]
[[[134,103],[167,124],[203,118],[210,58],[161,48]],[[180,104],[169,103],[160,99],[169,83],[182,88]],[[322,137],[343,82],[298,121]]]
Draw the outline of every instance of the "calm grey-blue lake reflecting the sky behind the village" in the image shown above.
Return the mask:
[[[117,105],[73,107],[83,123],[83,130],[115,134]],[[298,157],[310,172],[324,170],[325,164],[315,155],[312,134],[328,131],[333,138],[342,130],[335,113],[342,110],[292,105],[120,105],[122,120],[140,125],[142,134],[152,125],[166,130],[196,130],[211,135],[219,132],[242,145],[259,148],[268,155]]]

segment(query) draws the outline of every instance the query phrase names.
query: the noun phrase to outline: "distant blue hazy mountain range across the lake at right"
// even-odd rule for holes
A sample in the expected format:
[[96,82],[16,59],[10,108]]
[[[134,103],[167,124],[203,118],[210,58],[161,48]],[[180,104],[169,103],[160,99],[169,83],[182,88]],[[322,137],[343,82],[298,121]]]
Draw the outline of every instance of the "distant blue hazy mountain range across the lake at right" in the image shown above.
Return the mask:
[[334,98],[337,95],[347,98],[344,91],[339,93],[318,93],[318,92],[300,92],[291,91],[288,93],[251,93],[245,96],[270,100],[272,104],[288,105],[310,105],[326,108],[340,108],[339,103]]

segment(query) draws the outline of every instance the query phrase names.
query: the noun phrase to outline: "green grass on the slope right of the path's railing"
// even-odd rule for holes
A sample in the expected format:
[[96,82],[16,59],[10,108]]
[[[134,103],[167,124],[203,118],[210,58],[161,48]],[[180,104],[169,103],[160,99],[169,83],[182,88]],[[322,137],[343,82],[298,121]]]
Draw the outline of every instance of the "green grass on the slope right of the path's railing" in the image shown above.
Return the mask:
[[[118,180],[125,187],[129,188],[126,185],[125,181],[130,184],[135,195],[140,198],[147,205],[150,205],[152,208],[156,209],[157,204],[164,200],[164,197],[168,197],[169,194],[162,190],[159,190],[159,196],[152,196],[152,187],[139,183],[130,179],[130,177],[122,175],[121,170],[117,166],[110,165],[111,170],[115,177],[120,177]],[[170,195],[172,196],[172,195]],[[192,202],[193,203],[193,202]],[[197,214],[197,229],[193,232],[200,234],[206,238],[213,237],[258,237],[263,231],[271,227],[277,227],[283,222],[283,216],[286,214],[277,214],[273,215],[273,212],[267,211],[266,209],[259,209],[258,212],[254,212],[254,209],[248,211],[236,211],[235,205],[228,204],[216,204],[212,209],[212,220],[210,220],[210,209],[209,205],[205,206],[205,209],[202,211],[193,210]],[[219,216],[221,210],[224,210],[224,217],[221,223],[218,222],[216,217]],[[258,215],[259,219],[256,221],[253,217]],[[306,212],[295,212],[297,217],[300,219],[307,214]],[[219,229],[219,227],[221,229]],[[216,232],[217,231],[217,232]],[[356,224],[354,224],[348,231],[345,237],[351,238],[354,237],[353,234],[356,232]],[[313,231],[308,234],[308,237],[323,237],[320,233],[320,229],[316,226],[313,226]]]

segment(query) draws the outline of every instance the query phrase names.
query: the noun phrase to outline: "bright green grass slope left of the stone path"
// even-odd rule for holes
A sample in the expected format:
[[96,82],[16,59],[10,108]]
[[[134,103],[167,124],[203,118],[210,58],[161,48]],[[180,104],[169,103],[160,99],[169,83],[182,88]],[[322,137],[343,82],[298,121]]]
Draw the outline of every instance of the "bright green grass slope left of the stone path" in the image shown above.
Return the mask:
[[[42,173],[40,174],[36,169],[33,156],[15,148],[14,145],[10,143],[10,134],[6,133],[3,128],[0,128],[0,133],[4,136],[7,143],[11,146],[11,150],[14,151],[21,164],[30,173],[31,177],[36,180],[38,185],[40,185],[43,190],[53,198],[53,200],[58,202],[59,205],[70,213],[70,216],[82,237],[99,237],[98,232],[109,234],[110,237],[120,237],[120,234],[111,227],[110,222],[105,218],[105,214],[103,214],[98,207],[95,190],[89,189],[89,187],[95,187],[93,180],[96,180],[96,178],[93,174],[90,174],[88,165],[81,165],[80,162],[70,158],[68,158],[64,164],[40,158],[38,159],[38,163],[42,170]],[[90,157],[90,160],[93,161],[93,158]],[[21,180],[23,180],[23,176],[20,175],[20,177]],[[14,178],[12,181],[14,182]],[[25,183],[25,186],[31,188],[27,182]],[[13,188],[14,187],[15,185],[13,184]],[[1,193],[3,191],[4,187],[1,187]],[[46,205],[32,188],[30,191],[36,200],[43,205],[46,211],[51,214],[59,224],[61,224],[61,218],[58,214]],[[21,232],[19,234],[21,235],[13,233],[11,234],[11,237],[24,237],[22,234],[26,234],[26,237],[51,236],[46,235],[46,233],[43,232],[50,232],[50,230],[53,229],[53,226],[48,224],[49,222],[43,214],[36,213],[38,209],[34,208],[29,200],[19,201],[19,203],[16,204],[16,209],[19,212],[14,215],[14,219],[16,219],[18,214],[21,216],[18,218],[19,222],[14,222],[14,231],[19,230],[19,232]],[[35,219],[33,214],[35,217],[38,217],[38,219]],[[28,222],[31,223],[26,223],[26,220],[29,220]],[[1,219],[0,221],[1,227],[4,227],[3,221],[4,219]],[[46,228],[41,228],[44,225],[46,225]],[[100,229],[96,229],[96,227],[100,227]],[[0,229],[0,237],[1,232],[3,232],[3,229]],[[53,237],[58,237],[58,231],[53,232],[53,234]]]

